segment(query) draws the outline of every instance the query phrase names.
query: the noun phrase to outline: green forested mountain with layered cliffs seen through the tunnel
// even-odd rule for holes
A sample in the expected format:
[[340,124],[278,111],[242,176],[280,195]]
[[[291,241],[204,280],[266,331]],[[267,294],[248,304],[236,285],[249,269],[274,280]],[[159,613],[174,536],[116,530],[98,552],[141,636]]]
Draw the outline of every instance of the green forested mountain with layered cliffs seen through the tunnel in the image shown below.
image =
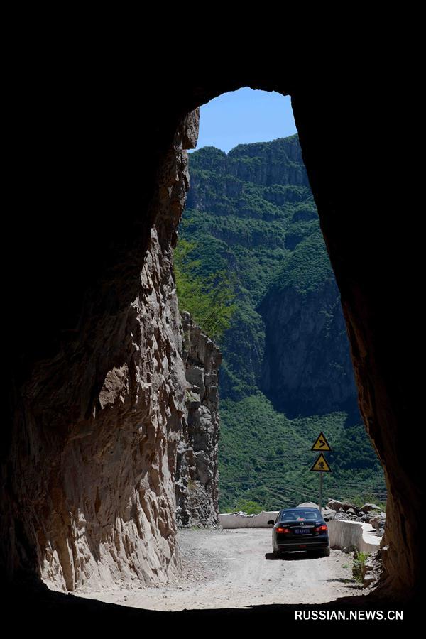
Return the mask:
[[[180,238],[178,275],[235,295],[216,337],[221,509],[316,498],[310,447],[320,430],[333,449],[325,496],[378,501],[383,473],[356,405],[339,291],[297,136],[192,153]],[[197,305],[202,295],[193,298]],[[220,324],[212,323],[220,309],[212,305],[210,325]]]

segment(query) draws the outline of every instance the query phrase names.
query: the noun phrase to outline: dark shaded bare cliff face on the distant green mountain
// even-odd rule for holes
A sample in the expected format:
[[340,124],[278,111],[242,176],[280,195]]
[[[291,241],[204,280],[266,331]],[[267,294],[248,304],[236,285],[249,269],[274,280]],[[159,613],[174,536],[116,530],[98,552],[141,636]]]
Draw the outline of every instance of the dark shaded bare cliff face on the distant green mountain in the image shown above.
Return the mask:
[[272,290],[261,304],[266,328],[261,388],[289,416],[342,406],[356,411],[354,371],[333,278],[315,290]]

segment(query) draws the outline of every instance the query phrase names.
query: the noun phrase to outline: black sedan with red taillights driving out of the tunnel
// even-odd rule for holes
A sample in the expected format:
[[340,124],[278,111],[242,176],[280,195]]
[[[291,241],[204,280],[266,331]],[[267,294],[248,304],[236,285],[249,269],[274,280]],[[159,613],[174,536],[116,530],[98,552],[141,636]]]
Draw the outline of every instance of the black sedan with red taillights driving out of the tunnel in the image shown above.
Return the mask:
[[274,557],[290,550],[321,551],[329,557],[329,534],[320,510],[317,508],[285,508],[280,510],[272,531],[272,548]]

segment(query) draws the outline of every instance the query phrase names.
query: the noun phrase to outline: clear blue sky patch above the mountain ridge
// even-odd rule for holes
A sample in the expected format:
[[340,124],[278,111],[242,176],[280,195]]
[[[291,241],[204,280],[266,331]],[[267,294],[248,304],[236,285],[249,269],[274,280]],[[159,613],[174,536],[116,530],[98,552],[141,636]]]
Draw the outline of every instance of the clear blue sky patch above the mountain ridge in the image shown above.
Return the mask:
[[201,107],[197,149],[268,142],[297,133],[290,96],[248,87],[224,93]]

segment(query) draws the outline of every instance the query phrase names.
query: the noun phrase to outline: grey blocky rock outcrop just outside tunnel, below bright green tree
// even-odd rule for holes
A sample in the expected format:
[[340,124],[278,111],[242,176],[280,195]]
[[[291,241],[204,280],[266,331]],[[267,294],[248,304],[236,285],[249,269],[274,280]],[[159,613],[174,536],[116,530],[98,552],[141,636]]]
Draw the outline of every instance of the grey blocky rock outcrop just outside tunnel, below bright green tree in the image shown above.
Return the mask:
[[177,519],[180,526],[217,526],[218,389],[222,355],[187,312],[182,313],[182,329],[187,391],[176,466]]

